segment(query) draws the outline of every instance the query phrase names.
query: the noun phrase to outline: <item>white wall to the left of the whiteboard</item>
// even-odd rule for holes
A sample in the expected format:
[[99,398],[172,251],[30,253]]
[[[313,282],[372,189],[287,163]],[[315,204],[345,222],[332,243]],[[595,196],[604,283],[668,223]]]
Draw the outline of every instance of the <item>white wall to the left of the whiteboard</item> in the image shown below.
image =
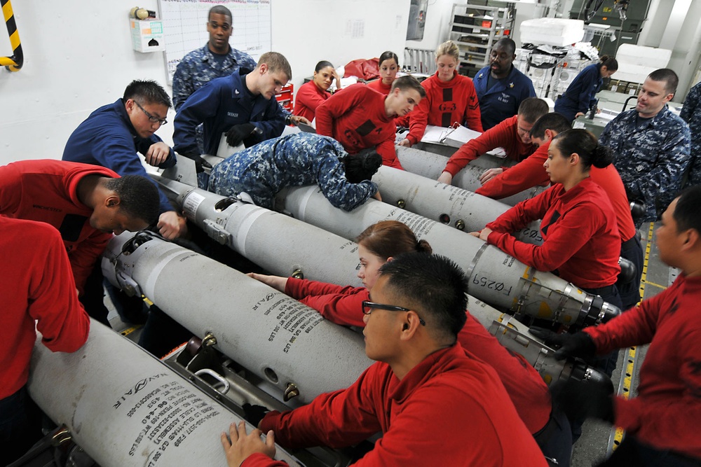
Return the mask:
[[[163,54],[131,48],[132,6],[133,0],[12,2],[25,63],[15,73],[0,69],[0,163],[60,159],[75,127],[121,97],[130,81],[165,83]],[[11,55],[4,31],[0,38],[0,53]]]

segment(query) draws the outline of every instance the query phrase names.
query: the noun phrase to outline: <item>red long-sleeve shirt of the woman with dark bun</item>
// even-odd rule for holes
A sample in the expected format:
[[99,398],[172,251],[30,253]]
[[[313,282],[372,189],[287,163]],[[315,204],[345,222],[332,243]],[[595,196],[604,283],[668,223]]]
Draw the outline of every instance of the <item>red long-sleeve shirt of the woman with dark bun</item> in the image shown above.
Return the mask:
[[[519,242],[516,232],[536,219],[543,244]],[[496,221],[487,241],[539,271],[557,271],[578,287],[615,284],[620,272],[620,236],[608,195],[587,178],[565,191],[562,184],[520,202]]]

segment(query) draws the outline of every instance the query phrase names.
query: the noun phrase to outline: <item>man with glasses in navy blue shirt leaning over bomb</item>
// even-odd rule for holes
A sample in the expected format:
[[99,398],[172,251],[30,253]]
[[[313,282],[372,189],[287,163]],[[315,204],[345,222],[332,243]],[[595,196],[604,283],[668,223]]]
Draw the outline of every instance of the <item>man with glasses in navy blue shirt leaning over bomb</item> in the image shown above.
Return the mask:
[[[100,107],[71,134],[63,151],[63,160],[100,165],[121,176],[149,177],[138,153],[149,165],[159,169],[173,167],[175,153],[154,132],[166,123],[170,109],[168,93],[155,81],[132,81],[124,96],[113,104]],[[177,214],[165,194],[161,196],[158,229],[167,239],[186,232],[186,220]]]

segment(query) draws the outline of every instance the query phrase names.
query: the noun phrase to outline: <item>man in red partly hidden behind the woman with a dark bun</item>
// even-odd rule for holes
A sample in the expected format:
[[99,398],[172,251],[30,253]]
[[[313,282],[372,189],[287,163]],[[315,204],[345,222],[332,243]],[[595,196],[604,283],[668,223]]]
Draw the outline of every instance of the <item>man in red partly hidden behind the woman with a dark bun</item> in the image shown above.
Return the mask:
[[[501,174],[494,176],[475,193],[494,200],[514,195],[536,185],[550,183],[550,176],[543,164],[547,160],[547,150],[552,138],[570,129],[567,119],[559,113],[547,113],[531,128],[531,140],[538,146],[535,153],[513,167],[505,167]],[[621,239],[620,256],[631,261],[637,270],[637,276],[631,281],[616,282],[618,293],[623,303],[622,309],[628,309],[640,301],[640,278],[643,271],[643,249],[637,230],[630,214],[628,197],[623,182],[613,164],[604,168],[592,167],[590,175],[608,195],[618,225]]]

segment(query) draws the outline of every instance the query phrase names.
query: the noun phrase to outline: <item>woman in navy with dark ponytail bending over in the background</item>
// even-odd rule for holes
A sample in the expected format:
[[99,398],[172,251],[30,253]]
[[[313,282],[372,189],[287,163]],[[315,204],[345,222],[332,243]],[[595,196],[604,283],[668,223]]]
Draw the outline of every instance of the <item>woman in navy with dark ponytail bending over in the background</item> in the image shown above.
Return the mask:
[[617,70],[618,62],[615,58],[604,55],[599,63],[594,63],[580,71],[564,94],[555,102],[555,111],[564,115],[570,123],[578,116],[585,115],[597,104],[594,96],[601,90],[604,78],[611,78]]

